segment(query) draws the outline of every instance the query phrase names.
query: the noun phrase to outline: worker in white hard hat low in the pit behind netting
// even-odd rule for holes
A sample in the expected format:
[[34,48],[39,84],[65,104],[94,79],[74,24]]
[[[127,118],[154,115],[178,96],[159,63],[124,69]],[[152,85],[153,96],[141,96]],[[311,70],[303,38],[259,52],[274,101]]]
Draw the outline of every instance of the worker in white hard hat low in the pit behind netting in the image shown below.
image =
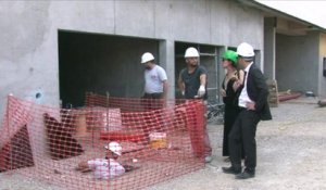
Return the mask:
[[110,179],[123,175],[126,169],[116,161],[118,156],[122,155],[121,144],[113,141],[104,148],[106,150],[105,159],[80,162],[77,166],[77,170],[93,170],[96,179]]

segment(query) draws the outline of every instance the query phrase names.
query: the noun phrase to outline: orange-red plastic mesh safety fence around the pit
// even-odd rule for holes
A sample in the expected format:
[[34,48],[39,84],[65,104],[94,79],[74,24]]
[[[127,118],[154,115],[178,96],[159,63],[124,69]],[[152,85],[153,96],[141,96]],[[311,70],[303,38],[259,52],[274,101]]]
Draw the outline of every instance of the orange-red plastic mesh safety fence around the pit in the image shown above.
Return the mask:
[[0,173],[71,190],[143,189],[204,166],[204,111],[200,100],[87,93],[67,110],[9,96]]

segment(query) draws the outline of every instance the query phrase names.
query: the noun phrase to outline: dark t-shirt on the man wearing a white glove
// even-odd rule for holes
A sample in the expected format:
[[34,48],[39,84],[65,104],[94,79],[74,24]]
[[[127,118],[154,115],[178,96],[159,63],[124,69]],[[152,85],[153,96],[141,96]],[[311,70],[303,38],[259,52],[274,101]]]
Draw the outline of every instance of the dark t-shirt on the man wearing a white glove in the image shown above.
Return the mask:
[[[184,68],[180,73],[181,80],[185,83],[185,98],[186,99],[193,99],[195,96],[198,94],[198,89],[200,87],[200,75],[205,74],[206,69],[199,65],[196,67],[195,72],[189,74],[188,68]],[[206,84],[208,85],[208,84]],[[205,94],[203,96],[203,99],[208,99],[208,89],[205,85]]]

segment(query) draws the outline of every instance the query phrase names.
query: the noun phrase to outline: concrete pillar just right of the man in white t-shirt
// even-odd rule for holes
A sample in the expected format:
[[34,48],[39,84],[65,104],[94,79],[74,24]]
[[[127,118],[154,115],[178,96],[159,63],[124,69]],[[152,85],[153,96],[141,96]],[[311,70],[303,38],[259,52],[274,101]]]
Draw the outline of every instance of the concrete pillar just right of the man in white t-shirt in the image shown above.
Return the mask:
[[165,69],[168,83],[167,98],[175,98],[175,53],[174,41],[162,40],[159,45],[160,65]]

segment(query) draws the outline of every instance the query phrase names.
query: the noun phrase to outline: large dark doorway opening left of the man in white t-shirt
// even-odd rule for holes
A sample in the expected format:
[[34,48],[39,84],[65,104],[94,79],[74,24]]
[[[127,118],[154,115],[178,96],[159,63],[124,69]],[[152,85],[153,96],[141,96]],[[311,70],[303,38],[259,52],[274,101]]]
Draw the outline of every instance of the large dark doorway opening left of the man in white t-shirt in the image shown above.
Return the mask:
[[59,30],[59,83],[63,106],[83,106],[86,92],[136,98],[142,94],[140,56],[159,40]]

